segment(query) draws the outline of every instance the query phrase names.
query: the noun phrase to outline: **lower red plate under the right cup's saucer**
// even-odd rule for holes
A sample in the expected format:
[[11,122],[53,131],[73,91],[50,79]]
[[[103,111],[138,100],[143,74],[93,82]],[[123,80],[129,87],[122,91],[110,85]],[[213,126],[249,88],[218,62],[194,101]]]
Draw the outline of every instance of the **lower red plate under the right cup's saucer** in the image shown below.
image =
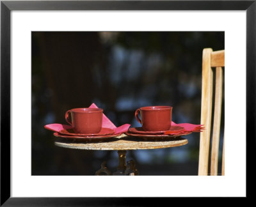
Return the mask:
[[175,137],[180,137],[184,135],[189,135],[191,133],[192,132],[181,132],[179,134],[133,134],[133,133],[125,132],[127,136],[138,137],[141,139],[154,139],[154,140],[175,138]]

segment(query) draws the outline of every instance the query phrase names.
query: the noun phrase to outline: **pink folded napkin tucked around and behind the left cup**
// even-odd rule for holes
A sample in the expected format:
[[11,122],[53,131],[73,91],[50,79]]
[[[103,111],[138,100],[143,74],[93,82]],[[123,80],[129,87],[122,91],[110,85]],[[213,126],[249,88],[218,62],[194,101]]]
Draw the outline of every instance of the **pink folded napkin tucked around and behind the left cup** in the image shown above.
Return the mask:
[[[97,105],[95,105],[94,103],[92,105],[90,105],[89,108],[98,108]],[[120,134],[120,133],[124,133],[124,132],[127,132],[128,131],[128,128],[130,127],[131,125],[129,124],[124,124],[120,127],[116,127],[109,119],[108,117],[103,114],[102,116],[102,128],[111,128],[115,131],[115,134]],[[62,124],[59,124],[59,123],[52,123],[52,124],[49,124],[49,125],[45,125],[44,128],[46,128],[47,130],[52,130],[54,132],[60,132],[60,130],[63,130],[63,129],[69,129],[69,128],[72,128],[72,126],[70,125],[62,125]]]

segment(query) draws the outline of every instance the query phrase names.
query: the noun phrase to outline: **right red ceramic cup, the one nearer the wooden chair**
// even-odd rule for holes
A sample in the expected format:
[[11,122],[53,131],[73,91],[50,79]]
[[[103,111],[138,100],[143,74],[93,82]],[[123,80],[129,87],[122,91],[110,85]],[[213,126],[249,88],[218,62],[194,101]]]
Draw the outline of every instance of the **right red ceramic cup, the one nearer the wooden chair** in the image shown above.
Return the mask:
[[[139,112],[141,119],[139,118]],[[170,129],[172,124],[172,107],[141,107],[135,111],[135,118],[141,123],[144,131],[166,131]]]

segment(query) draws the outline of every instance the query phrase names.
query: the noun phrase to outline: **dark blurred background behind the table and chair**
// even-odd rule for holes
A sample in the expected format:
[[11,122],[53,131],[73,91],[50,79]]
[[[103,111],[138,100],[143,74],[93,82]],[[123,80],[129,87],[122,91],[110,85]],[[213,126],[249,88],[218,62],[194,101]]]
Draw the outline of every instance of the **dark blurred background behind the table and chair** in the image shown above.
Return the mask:
[[[94,175],[104,160],[116,170],[116,151],[54,145],[44,125],[67,124],[68,109],[95,103],[116,126],[140,127],[136,109],[172,105],[175,123],[200,124],[202,50],[225,45],[224,32],[32,32],[31,38],[32,175]],[[224,118],[220,150],[223,124]],[[126,160],[136,162],[140,175],[196,175],[200,134],[184,138],[189,143],[176,148],[127,151]]]

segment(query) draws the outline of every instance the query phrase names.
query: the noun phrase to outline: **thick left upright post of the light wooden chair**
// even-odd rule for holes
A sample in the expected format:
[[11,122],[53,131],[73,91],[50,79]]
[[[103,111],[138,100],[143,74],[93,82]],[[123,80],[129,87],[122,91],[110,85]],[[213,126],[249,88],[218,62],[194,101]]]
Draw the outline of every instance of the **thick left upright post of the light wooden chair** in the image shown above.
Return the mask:
[[200,133],[198,175],[208,174],[209,146],[210,146],[210,134],[211,134],[211,115],[212,115],[211,52],[212,52],[212,49],[203,50],[201,124],[204,124],[205,130],[204,132]]

